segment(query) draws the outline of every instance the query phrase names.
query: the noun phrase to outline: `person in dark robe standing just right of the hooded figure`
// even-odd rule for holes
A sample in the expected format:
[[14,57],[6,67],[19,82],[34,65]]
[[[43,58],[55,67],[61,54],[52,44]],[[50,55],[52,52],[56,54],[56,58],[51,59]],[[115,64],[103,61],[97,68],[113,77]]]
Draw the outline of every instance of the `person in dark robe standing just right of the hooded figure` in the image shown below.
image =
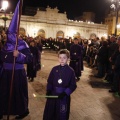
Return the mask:
[[30,82],[34,81],[34,77],[37,74],[37,64],[39,61],[39,51],[38,48],[35,46],[35,41],[30,42],[30,51],[33,56],[32,62],[27,64],[27,76],[30,79]]

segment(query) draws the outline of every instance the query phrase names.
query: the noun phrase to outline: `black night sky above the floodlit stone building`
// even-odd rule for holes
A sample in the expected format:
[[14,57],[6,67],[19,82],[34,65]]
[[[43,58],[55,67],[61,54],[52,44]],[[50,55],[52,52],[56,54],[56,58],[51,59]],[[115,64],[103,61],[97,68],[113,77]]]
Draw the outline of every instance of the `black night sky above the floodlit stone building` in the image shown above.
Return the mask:
[[[18,0],[8,0],[9,10],[14,12]],[[110,0],[23,0],[23,14],[26,6],[33,7],[58,7],[60,12],[67,13],[68,19],[81,16],[84,11],[92,11],[96,14],[96,22],[104,21],[106,11],[110,8]]]

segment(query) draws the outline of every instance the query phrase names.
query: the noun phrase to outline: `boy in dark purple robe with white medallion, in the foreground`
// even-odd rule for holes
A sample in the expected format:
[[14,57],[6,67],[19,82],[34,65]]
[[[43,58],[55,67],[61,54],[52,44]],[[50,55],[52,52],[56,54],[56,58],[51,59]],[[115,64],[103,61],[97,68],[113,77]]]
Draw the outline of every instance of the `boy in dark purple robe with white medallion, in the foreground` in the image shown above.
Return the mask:
[[52,68],[47,80],[47,95],[58,98],[47,99],[43,120],[68,120],[70,95],[77,87],[74,70],[67,64],[69,51],[60,50],[58,58],[60,65]]

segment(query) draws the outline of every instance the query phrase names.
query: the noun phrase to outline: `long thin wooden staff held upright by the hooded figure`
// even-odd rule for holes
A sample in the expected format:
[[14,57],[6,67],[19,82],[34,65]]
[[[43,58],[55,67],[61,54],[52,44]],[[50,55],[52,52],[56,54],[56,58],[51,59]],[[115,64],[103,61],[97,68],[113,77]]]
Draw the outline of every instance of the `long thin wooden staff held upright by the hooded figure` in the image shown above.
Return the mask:
[[[19,16],[18,16],[19,17],[19,19],[18,19],[18,29],[17,29],[17,35],[16,35],[15,50],[17,50],[17,45],[18,45],[20,18],[21,18],[21,14],[22,14],[22,4],[23,4],[23,0],[20,0]],[[12,78],[11,78],[11,83],[10,83],[10,96],[9,96],[7,120],[9,120],[10,109],[11,109],[11,100],[12,100],[12,92],[13,92],[13,81],[14,81],[14,72],[15,72],[15,62],[16,62],[16,57],[14,57],[14,61],[13,61],[13,69],[12,69]]]

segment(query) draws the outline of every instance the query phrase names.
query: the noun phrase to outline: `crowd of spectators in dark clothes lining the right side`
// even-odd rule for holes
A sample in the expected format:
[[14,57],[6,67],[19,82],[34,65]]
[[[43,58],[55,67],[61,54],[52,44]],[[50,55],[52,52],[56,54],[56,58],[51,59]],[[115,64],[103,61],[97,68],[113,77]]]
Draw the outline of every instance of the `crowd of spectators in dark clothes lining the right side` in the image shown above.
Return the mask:
[[120,97],[120,37],[98,38],[84,44],[84,59],[91,68],[96,67],[96,78],[110,84],[109,92]]

